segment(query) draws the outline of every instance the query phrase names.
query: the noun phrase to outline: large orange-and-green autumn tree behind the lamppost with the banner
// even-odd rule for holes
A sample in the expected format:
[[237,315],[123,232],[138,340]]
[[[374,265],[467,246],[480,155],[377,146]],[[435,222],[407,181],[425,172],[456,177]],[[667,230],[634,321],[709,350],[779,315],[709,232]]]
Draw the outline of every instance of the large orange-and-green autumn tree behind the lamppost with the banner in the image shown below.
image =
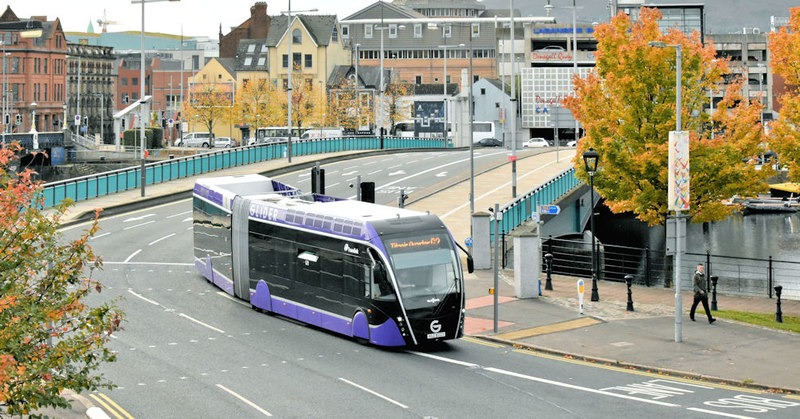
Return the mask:
[[564,100],[586,131],[575,168],[588,181],[581,154],[593,147],[601,164],[595,187],[606,205],[615,213],[633,212],[650,225],[663,223],[669,131],[676,119],[676,54],[674,48],[654,48],[649,42],[681,45],[679,111],[690,137],[689,213],[695,222],[724,219],[733,208],[723,205],[723,199],[763,190],[771,174],[742,161],[757,154],[763,141],[761,105],[743,100],[741,84],[736,84],[709,117],[703,110],[708,89],[721,82],[728,64],[715,60],[713,43],[703,46],[696,32],[662,32],[660,18],[658,10],[643,8],[636,22],[620,13],[595,28],[597,65],[585,79],[573,79],[575,95]]

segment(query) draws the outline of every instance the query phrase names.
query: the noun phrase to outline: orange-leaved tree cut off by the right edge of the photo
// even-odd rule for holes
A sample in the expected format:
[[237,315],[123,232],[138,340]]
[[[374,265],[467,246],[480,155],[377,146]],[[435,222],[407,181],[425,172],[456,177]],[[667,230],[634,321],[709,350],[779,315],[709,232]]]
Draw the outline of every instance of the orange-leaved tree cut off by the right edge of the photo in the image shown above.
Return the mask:
[[800,182],[800,7],[789,12],[789,28],[769,34],[772,70],[787,86],[787,93],[779,98],[781,113],[769,143],[788,166],[791,180]]

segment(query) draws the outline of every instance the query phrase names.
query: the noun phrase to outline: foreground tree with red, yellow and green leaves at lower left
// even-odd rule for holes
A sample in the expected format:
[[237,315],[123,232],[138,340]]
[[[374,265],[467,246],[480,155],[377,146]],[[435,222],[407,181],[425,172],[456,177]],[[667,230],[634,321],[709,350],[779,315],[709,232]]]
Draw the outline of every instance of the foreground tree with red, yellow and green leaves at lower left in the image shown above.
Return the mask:
[[68,408],[64,389],[111,388],[97,372],[116,355],[106,346],[123,314],[113,303],[90,306],[102,267],[88,240],[97,219],[75,240],[59,223],[69,203],[47,213],[33,172],[9,169],[19,146],[0,149],[0,403],[10,415]]

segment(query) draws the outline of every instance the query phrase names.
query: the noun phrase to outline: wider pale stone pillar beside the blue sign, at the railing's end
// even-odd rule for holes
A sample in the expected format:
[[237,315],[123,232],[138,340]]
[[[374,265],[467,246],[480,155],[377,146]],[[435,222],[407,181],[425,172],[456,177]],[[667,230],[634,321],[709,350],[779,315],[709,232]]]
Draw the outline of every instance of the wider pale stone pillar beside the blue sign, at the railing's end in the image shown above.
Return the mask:
[[517,298],[539,298],[539,277],[542,274],[542,242],[538,229],[513,233],[514,295]]

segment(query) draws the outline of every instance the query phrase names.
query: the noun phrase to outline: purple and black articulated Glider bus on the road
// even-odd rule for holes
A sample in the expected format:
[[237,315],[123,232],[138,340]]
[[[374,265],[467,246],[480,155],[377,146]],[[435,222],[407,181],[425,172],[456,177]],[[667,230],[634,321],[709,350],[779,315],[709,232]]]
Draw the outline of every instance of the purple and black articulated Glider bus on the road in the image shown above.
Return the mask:
[[199,179],[193,201],[196,268],[254,309],[379,346],[464,333],[464,249],[435,215],[261,175]]

